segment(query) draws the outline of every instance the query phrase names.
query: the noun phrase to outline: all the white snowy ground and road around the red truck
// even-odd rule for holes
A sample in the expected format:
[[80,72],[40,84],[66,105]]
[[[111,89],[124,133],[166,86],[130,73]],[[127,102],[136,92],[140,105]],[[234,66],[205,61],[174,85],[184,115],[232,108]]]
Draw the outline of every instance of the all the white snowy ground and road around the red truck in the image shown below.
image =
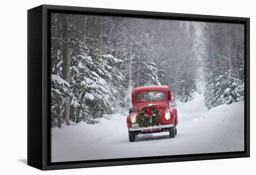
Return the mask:
[[116,114],[101,124],[79,123],[52,129],[52,162],[139,156],[166,156],[244,150],[244,102],[217,106],[210,111],[203,95],[178,103],[178,134],[139,135],[129,142],[126,116]]

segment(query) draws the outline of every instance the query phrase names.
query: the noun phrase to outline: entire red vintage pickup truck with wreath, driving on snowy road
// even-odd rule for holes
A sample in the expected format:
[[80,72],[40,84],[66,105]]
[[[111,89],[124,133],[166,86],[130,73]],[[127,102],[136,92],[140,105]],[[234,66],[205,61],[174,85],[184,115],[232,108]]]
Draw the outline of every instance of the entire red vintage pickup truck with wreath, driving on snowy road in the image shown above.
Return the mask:
[[168,86],[144,86],[132,91],[132,107],[127,117],[129,141],[134,142],[138,134],[169,132],[177,134],[177,110],[171,105]]

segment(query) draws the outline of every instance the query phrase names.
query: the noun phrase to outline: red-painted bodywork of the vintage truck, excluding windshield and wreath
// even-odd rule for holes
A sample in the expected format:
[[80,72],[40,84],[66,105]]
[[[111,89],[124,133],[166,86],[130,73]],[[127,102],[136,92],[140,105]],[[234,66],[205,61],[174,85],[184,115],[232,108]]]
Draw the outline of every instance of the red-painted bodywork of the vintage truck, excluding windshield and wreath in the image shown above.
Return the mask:
[[[141,92],[149,92],[149,91],[164,91],[166,93],[166,100],[152,100],[152,101],[145,101],[145,102],[140,102],[140,103],[136,103],[135,100],[135,96],[138,93]],[[132,108],[133,108],[133,113],[130,113],[127,117],[127,127],[131,128],[132,124],[131,124],[131,120],[130,120],[130,116],[135,114],[136,116],[138,116],[138,113],[140,112],[140,110],[145,107],[148,106],[149,104],[151,104],[152,106],[155,106],[159,112],[160,112],[160,119],[159,119],[159,123],[161,125],[168,125],[168,124],[174,124],[177,126],[178,125],[178,117],[177,117],[177,109],[175,107],[172,107],[171,105],[171,92],[170,92],[170,88],[168,86],[144,86],[144,87],[138,87],[138,88],[134,88],[133,92],[132,92]],[[150,109],[150,108],[147,108]],[[170,119],[165,119],[165,112],[170,112],[171,114],[171,118]],[[149,116],[151,116],[151,110],[147,110],[146,114],[148,114]],[[154,131],[143,131],[143,132],[159,132],[157,130]]]

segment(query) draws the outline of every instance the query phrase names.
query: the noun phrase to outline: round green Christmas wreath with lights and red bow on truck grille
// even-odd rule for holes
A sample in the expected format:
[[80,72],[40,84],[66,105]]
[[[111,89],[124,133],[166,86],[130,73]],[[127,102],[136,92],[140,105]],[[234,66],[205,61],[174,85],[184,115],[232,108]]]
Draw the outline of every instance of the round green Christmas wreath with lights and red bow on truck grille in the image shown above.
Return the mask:
[[138,124],[140,127],[159,125],[159,111],[155,106],[146,106],[138,114]]

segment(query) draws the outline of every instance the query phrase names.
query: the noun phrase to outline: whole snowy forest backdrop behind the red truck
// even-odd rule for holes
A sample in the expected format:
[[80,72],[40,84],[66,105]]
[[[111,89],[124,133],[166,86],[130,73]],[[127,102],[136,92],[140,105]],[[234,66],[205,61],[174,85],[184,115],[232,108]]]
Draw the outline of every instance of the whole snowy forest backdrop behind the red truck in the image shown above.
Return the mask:
[[50,59],[52,127],[128,112],[147,85],[169,86],[174,106],[198,81],[209,109],[244,100],[240,24],[51,13]]

